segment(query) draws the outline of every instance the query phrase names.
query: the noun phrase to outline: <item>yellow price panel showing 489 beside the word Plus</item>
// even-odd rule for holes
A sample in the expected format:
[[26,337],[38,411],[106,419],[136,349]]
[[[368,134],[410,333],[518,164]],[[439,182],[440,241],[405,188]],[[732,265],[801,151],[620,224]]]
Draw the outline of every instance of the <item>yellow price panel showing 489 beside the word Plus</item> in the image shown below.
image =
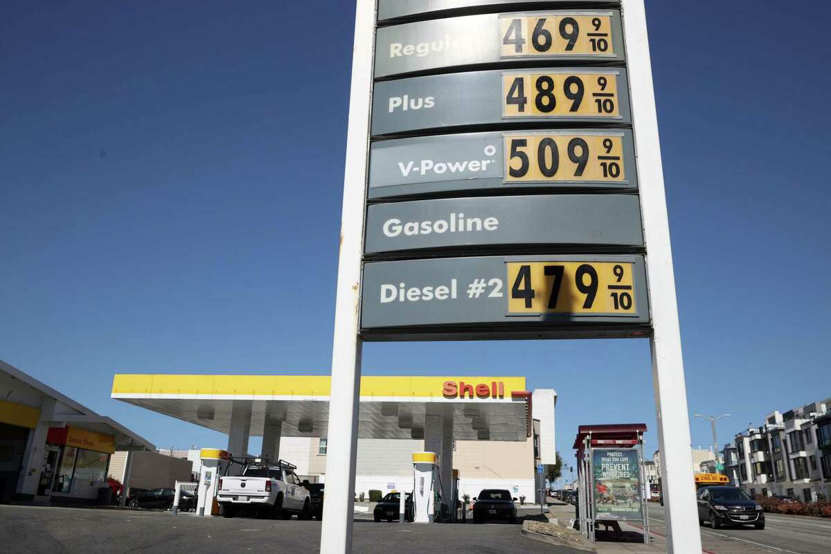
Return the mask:
[[593,116],[617,119],[617,71],[506,71],[503,117]]

